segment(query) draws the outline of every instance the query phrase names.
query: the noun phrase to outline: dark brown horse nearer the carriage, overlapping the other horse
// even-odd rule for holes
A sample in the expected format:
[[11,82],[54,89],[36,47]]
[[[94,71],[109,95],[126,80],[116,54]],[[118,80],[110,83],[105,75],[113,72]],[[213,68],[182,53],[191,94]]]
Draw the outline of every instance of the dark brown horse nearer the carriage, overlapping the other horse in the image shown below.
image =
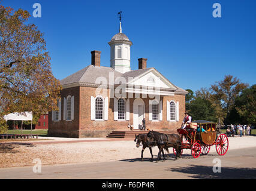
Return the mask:
[[[176,155],[175,158],[177,159],[177,157],[180,158],[181,156],[181,139],[180,136],[177,134],[163,134],[163,133],[159,133],[156,131],[149,131],[149,133],[147,133],[147,137],[149,138],[149,140],[153,140],[155,141],[155,143],[158,146],[159,152],[158,152],[158,161],[159,159],[161,159],[161,153],[164,157],[164,161],[165,161],[165,156],[164,156],[164,149],[168,149],[168,147],[173,147],[176,150]],[[158,162],[156,161],[156,162]]]

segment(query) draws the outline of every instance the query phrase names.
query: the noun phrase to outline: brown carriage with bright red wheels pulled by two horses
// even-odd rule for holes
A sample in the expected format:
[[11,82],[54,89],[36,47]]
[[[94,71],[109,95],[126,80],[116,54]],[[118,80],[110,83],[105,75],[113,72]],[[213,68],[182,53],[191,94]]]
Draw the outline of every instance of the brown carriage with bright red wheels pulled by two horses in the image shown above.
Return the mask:
[[[225,134],[217,134],[216,123],[209,121],[194,121],[189,128],[177,129],[180,135],[181,149],[191,149],[194,158],[201,154],[207,155],[210,147],[215,145],[218,155],[225,155],[228,150],[228,137]],[[173,148],[176,155],[176,149]]]

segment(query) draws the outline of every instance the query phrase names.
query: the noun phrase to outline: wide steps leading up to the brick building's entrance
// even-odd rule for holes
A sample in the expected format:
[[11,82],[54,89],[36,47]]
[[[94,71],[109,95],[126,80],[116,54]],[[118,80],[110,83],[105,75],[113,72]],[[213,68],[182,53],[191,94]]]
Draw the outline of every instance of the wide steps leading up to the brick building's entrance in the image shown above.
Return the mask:
[[[159,130],[157,131],[159,133],[164,134],[173,134],[177,133],[176,130]],[[140,130],[134,130],[134,131],[112,131],[109,135],[107,135],[107,138],[135,138],[135,134],[143,134],[143,133],[149,133],[149,131],[140,131]]]

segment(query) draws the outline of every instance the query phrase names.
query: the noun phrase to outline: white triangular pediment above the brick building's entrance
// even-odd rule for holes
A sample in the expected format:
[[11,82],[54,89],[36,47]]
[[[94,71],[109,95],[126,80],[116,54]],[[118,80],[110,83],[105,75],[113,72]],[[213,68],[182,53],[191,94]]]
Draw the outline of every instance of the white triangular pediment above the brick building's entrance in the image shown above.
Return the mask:
[[128,82],[128,84],[177,90],[177,88],[171,84],[170,81],[164,78],[161,73],[153,68],[132,79]]

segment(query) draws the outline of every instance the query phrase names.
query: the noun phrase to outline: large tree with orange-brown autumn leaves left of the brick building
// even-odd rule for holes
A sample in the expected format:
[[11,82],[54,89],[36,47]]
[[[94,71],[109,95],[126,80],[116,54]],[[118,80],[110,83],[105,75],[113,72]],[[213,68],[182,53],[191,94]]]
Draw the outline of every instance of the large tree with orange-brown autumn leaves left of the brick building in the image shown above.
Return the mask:
[[57,110],[61,91],[52,74],[46,41],[37,26],[28,24],[28,11],[0,5],[0,116]]

